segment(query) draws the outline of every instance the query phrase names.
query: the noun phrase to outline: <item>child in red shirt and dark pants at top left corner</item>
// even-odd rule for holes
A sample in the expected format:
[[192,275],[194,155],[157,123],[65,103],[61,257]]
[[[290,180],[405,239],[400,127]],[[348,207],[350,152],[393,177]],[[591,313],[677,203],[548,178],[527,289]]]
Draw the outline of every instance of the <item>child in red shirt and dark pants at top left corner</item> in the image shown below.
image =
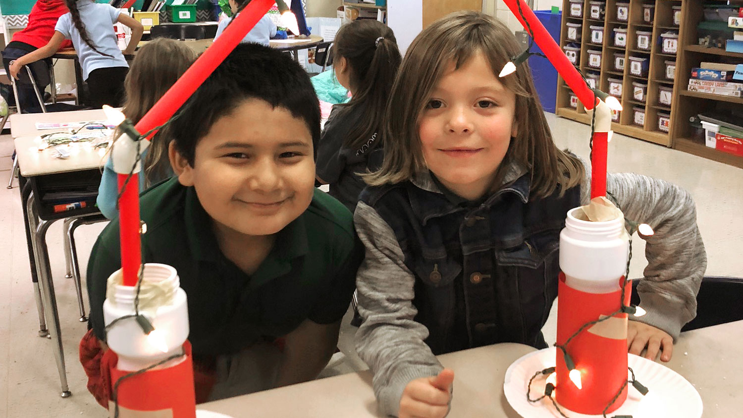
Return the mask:
[[[17,59],[27,53],[33,52],[44,45],[47,45],[49,39],[54,34],[54,25],[59,16],[67,13],[69,10],[65,6],[65,0],[38,0],[33,4],[31,13],[28,15],[28,25],[25,29],[13,34],[13,39],[2,51],[4,59]],[[65,40],[61,48],[70,48],[72,42]],[[7,63],[4,63],[5,71],[8,71]],[[18,84],[19,102],[24,113],[38,113],[41,106],[30,85]],[[46,85],[39,85],[39,89],[45,88]]]

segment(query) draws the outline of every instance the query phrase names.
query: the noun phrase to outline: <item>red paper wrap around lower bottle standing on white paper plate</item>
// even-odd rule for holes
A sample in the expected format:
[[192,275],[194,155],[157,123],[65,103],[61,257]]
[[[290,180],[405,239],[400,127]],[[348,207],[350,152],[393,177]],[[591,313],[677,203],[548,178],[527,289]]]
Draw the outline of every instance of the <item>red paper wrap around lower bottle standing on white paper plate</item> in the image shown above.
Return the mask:
[[[624,283],[624,278],[620,278]],[[632,282],[625,284],[625,304],[629,304]],[[620,290],[611,293],[585,293],[565,284],[559,274],[557,298],[557,344],[565,341],[583,324],[608,316],[620,308]],[[582,388],[570,380],[565,356],[557,349],[557,385],[555,400],[559,405],[579,414],[600,415],[627,380],[627,314],[595,324],[583,330],[568,344],[566,350],[581,372]],[[625,401],[625,387],[606,411],[615,411]]]

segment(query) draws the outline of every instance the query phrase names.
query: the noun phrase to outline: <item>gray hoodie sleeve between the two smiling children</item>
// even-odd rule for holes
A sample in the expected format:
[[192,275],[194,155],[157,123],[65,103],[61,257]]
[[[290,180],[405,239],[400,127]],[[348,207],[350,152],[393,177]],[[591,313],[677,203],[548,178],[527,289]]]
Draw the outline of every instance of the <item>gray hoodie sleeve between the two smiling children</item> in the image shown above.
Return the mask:
[[354,213],[366,259],[357,273],[358,309],[363,324],[356,350],[374,373],[374,395],[384,416],[396,417],[403,389],[413,379],[443,368],[424,340],[428,329],[413,318],[415,276],[403,264],[392,228],[366,203]]

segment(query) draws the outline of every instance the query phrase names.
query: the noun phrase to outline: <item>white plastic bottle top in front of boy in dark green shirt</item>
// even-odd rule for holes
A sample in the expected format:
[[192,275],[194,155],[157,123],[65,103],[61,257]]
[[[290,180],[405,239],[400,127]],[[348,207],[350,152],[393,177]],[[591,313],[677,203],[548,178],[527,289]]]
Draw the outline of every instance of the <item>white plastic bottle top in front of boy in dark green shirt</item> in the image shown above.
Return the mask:
[[[114,275],[120,276],[121,270],[111,276]],[[158,307],[154,315],[149,313],[152,310],[140,308],[140,315],[149,319],[155,327],[154,333],[161,339],[156,341],[155,336],[145,335],[134,318],[114,324],[107,332],[106,342],[119,356],[117,368],[120,370],[140,370],[179,353],[189,335],[186,292],[180,287],[175,268],[167,264],[145,264],[143,281],[159,282],[164,290],[162,300],[166,303]],[[120,279],[116,281],[120,282]],[[103,321],[106,325],[122,316],[134,315],[136,290],[136,287],[116,285],[114,300],[106,298],[103,302]],[[163,365],[163,368],[167,366]]]

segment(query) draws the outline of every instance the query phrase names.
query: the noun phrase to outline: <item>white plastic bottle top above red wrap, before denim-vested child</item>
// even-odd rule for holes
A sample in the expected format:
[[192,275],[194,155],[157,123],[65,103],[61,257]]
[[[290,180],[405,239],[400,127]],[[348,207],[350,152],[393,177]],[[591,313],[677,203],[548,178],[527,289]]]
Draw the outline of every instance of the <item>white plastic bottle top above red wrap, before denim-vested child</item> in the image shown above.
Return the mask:
[[565,284],[586,293],[620,290],[629,253],[624,219],[592,222],[583,221],[581,215],[580,207],[568,211],[559,234],[559,267]]

